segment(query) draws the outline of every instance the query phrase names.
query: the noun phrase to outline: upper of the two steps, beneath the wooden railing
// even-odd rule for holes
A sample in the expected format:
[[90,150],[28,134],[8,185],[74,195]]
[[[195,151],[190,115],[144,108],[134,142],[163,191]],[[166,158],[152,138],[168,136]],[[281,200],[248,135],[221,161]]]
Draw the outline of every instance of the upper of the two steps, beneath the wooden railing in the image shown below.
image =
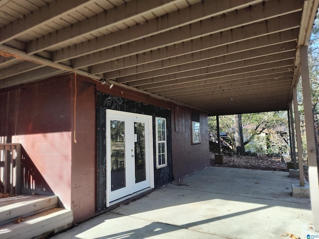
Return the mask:
[[57,206],[58,197],[54,195],[30,195],[0,199],[0,226],[21,216],[26,218]]

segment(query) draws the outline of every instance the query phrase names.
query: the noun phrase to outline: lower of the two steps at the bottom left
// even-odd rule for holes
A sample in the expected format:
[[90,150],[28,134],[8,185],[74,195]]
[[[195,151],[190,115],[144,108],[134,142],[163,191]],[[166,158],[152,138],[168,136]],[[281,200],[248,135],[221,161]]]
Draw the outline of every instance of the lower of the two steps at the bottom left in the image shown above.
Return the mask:
[[23,218],[20,223],[10,222],[0,227],[1,239],[45,238],[72,226],[72,210],[53,208]]

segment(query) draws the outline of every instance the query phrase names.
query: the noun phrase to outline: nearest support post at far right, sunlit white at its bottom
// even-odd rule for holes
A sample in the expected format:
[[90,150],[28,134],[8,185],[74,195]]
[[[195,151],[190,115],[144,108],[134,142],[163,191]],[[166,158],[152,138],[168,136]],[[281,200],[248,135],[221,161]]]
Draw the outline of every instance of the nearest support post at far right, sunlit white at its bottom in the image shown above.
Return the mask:
[[301,74],[304,96],[305,125],[307,139],[307,155],[309,165],[309,183],[311,207],[314,217],[314,229],[319,232],[319,181],[318,181],[318,164],[316,155],[314,115],[311,99],[311,88],[308,66],[308,47],[300,47],[301,57]]

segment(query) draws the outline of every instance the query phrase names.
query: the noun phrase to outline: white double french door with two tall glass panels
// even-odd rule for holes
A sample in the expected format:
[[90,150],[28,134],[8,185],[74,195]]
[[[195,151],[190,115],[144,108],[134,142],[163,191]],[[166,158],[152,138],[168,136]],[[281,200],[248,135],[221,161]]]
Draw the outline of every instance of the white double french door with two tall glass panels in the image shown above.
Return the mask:
[[107,207],[154,187],[152,116],[106,110]]

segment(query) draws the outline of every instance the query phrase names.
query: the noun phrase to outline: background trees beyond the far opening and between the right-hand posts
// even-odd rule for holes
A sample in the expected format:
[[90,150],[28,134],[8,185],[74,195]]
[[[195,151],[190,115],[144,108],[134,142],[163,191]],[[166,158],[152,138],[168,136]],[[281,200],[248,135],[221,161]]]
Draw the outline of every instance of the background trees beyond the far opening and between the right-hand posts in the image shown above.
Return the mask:
[[[317,161],[319,164],[319,13],[317,14],[317,19],[313,26],[310,46],[308,49],[314,127],[317,139]],[[301,81],[299,81],[298,84],[297,96],[301,120],[303,153],[306,154],[307,142],[305,136],[306,130]],[[281,152],[286,152],[289,149],[287,112],[245,114],[241,117],[243,132],[241,136],[243,139],[243,145],[247,150],[266,154],[280,154]],[[227,139],[224,140],[224,144],[228,145],[229,149],[232,151],[236,151],[236,125],[237,132],[240,132],[240,123],[237,122],[235,125],[235,121],[238,118],[236,120],[235,119],[236,118],[234,116],[219,117],[220,131],[227,134]],[[210,117],[208,119],[208,124],[210,126],[210,131],[214,131],[216,129],[216,118]],[[238,143],[240,143],[240,141]]]

